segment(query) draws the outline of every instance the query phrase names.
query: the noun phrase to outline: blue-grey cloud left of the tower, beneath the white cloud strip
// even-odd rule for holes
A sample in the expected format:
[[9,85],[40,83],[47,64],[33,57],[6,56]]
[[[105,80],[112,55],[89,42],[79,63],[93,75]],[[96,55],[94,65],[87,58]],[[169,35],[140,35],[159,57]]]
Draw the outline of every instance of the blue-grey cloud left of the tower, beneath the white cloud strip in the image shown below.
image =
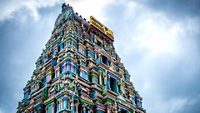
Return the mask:
[[17,110],[18,101],[23,97],[23,87],[51,36],[58,15],[54,9],[56,6],[39,9],[38,21],[33,19],[29,10],[23,9],[13,14],[15,18],[0,22],[0,111],[3,113]]

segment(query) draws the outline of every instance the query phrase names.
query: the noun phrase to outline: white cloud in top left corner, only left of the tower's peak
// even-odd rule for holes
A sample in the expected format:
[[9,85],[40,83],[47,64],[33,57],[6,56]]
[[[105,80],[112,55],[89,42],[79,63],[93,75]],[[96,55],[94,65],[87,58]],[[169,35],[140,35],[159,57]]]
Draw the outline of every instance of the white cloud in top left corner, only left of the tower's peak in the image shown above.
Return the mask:
[[[60,1],[60,0],[59,0]],[[3,1],[1,3],[1,10],[0,13],[0,21],[5,19],[14,18],[14,14],[21,10],[28,10],[29,13],[25,13],[26,15],[30,15],[35,20],[39,19],[38,9],[43,7],[52,7],[59,3],[57,0],[48,0],[48,1],[41,1],[41,0],[8,0]]]

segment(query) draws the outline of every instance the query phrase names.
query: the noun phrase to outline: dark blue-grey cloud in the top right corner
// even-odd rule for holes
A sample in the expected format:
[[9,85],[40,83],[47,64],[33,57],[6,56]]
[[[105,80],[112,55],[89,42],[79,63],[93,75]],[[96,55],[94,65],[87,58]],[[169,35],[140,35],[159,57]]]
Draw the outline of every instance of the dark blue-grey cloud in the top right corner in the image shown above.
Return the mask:
[[199,0],[138,0],[138,2],[179,19],[200,15]]

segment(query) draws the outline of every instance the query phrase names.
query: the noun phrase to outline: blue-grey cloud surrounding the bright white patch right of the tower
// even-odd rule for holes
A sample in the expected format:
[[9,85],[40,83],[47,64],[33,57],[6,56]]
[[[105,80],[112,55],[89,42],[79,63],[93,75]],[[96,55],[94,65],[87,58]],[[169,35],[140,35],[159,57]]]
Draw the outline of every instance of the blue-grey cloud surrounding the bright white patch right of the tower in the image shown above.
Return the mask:
[[[125,67],[131,73],[136,89],[144,97],[144,107],[149,113],[197,113],[200,95],[200,22],[198,21],[198,1],[129,1],[141,5],[133,8],[132,14],[128,14],[127,4],[115,3],[107,9],[108,22],[115,32],[116,50],[120,55]],[[193,4],[193,6],[192,6]],[[191,25],[182,27],[183,34],[178,38],[181,52],[173,56],[161,54],[157,57],[149,57],[146,50],[138,49],[135,39],[139,33],[137,26],[145,21],[145,10],[149,16],[155,13],[167,15],[171,24],[193,20]],[[184,9],[184,7],[187,7]],[[146,9],[144,9],[146,8]],[[194,9],[193,9],[194,8]],[[194,11],[195,10],[195,11]],[[193,12],[194,11],[194,12]],[[152,13],[152,15],[150,15]],[[174,17],[172,17],[174,16]],[[120,22],[119,22],[120,21]],[[155,20],[156,22],[157,20]],[[165,23],[160,19],[161,24]],[[119,23],[118,23],[119,22]],[[118,24],[116,24],[118,23]],[[142,29],[145,30],[145,29]],[[125,43],[125,44],[124,44]],[[132,48],[125,53],[126,46]],[[147,86],[146,85],[147,82]],[[149,85],[149,86],[148,86]],[[146,87],[150,87],[149,89]],[[197,101],[194,101],[197,100]]]

